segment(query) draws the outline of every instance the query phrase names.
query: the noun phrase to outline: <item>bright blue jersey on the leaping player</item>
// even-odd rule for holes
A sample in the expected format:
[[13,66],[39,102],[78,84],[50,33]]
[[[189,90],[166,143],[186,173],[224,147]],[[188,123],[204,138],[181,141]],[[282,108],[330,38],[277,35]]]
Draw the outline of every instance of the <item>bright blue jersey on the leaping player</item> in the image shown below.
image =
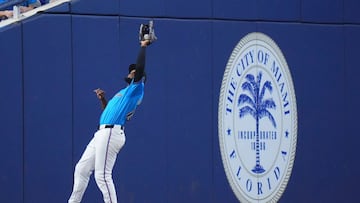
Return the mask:
[[100,117],[100,125],[124,125],[134,114],[136,107],[144,96],[144,83],[134,83],[120,90],[108,102]]

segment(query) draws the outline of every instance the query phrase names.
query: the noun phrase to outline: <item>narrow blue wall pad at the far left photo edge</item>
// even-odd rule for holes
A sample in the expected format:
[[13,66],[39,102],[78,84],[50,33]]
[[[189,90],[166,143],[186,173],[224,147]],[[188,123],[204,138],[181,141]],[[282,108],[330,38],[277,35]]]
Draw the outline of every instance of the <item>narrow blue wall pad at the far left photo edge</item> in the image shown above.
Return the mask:
[[[0,44],[0,202],[22,202],[23,81],[21,26],[1,32]],[[4,51],[6,50],[6,51]]]

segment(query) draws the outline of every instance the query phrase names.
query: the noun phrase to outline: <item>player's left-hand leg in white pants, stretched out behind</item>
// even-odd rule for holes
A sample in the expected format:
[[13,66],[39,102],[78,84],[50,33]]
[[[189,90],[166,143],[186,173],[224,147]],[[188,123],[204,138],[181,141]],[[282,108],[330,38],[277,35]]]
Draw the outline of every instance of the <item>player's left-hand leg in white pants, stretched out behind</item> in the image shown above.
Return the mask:
[[94,138],[90,141],[75,166],[74,186],[69,203],[81,202],[84,192],[88,186],[89,178],[95,168],[95,145]]

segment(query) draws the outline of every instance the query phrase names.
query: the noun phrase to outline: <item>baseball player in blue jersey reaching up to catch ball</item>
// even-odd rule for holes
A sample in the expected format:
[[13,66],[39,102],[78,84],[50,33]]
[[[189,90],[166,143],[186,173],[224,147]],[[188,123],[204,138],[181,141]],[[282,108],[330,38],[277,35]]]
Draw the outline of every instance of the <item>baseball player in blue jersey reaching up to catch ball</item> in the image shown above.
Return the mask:
[[125,77],[127,87],[116,93],[109,102],[105,99],[103,90],[94,90],[101,101],[103,112],[98,131],[95,132],[75,166],[74,186],[69,203],[81,202],[93,171],[95,171],[95,181],[103,194],[104,202],[117,203],[112,169],[117,154],[125,144],[125,122],[132,117],[143,98],[146,48],[156,39],[152,21],[149,25],[141,24],[140,51],[136,64],[129,66],[129,74]]

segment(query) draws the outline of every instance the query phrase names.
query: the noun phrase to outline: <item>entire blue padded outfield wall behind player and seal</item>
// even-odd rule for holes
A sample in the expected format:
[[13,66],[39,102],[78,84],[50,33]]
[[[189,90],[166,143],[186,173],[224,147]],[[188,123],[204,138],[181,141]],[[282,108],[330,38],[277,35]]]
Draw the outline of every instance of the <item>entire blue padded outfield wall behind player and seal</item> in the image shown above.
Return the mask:
[[[113,170],[120,202],[238,202],[222,165],[217,110],[227,60],[250,32],[278,44],[295,86],[297,151],[280,202],[360,201],[360,3],[324,5],[87,0],[1,29],[0,202],[67,201],[101,113],[93,90],[110,98],[125,85],[139,24],[149,19],[159,40],[147,50],[145,98]],[[101,201],[91,177],[83,202]]]

